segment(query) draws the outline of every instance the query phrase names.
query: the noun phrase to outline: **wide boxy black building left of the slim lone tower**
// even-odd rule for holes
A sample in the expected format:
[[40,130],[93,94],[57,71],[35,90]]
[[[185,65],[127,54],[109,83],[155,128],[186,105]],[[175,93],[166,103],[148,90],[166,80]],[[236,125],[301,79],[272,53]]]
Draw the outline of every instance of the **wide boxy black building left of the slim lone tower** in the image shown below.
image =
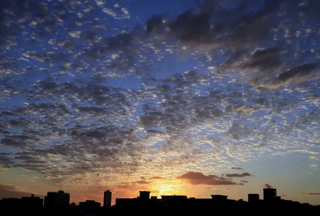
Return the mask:
[[45,196],[46,208],[67,208],[70,202],[70,194],[65,193],[63,190],[58,192],[48,192]]

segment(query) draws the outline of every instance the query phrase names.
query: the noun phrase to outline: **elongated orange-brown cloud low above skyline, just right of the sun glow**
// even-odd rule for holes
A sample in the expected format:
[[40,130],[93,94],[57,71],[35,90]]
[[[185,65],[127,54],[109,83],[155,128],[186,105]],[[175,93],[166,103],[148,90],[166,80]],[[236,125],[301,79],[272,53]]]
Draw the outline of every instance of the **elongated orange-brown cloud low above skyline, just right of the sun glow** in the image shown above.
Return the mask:
[[231,179],[219,177],[216,175],[204,175],[202,172],[193,172],[188,171],[180,176],[176,177],[177,179],[186,180],[190,184],[198,185],[232,185],[237,184]]

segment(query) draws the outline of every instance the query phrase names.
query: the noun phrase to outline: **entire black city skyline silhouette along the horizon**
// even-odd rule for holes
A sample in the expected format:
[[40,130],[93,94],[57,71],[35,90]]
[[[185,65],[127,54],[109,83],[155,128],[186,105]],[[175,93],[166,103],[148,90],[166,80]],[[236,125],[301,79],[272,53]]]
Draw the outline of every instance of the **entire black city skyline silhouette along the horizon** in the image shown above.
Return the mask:
[[[318,215],[320,205],[300,203],[294,200],[281,199],[276,189],[265,185],[263,198],[259,194],[248,193],[248,201],[243,199],[228,199],[227,195],[212,194],[211,198],[195,198],[186,195],[161,195],[161,198],[153,196],[151,191],[140,190],[139,196],[135,198],[116,198],[116,203],[110,205],[112,191],[104,191],[103,205],[95,200],[80,201],[79,204],[70,203],[70,194],[63,190],[48,192],[44,199],[31,194],[31,196],[19,198],[3,198],[0,200],[0,209],[3,212],[11,212],[11,215],[33,213],[34,215],[149,215],[150,211],[155,214],[194,215],[194,213],[215,212],[246,213],[255,215],[261,208],[271,207],[264,213],[272,215],[283,215],[283,213],[295,213],[299,215]],[[217,191],[218,192],[218,191]],[[229,209],[229,211],[225,211]]]

